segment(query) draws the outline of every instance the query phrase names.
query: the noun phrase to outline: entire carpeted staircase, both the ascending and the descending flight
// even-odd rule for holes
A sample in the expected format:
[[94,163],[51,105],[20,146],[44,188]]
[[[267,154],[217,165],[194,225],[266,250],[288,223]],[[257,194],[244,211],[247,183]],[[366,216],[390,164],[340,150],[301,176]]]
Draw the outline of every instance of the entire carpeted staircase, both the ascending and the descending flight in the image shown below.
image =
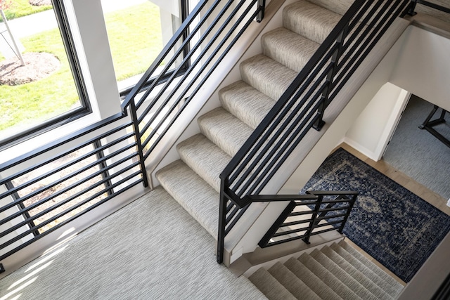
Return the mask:
[[[262,53],[240,64],[241,80],[219,91],[221,107],[198,117],[200,133],[176,145],[180,159],[156,173],[214,238],[219,174],[351,4],[301,0],[285,6],[283,27],[263,35]],[[392,299],[402,288],[345,242],[261,268],[250,280],[269,299]]]

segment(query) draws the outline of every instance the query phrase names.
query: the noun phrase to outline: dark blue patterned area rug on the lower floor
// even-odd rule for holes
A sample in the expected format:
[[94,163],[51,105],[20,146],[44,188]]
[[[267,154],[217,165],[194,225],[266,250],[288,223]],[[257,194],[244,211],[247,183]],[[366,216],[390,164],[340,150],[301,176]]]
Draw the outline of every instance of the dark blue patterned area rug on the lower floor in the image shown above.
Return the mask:
[[450,230],[450,216],[342,148],[301,193],[306,190],[357,190],[345,235],[405,282]]

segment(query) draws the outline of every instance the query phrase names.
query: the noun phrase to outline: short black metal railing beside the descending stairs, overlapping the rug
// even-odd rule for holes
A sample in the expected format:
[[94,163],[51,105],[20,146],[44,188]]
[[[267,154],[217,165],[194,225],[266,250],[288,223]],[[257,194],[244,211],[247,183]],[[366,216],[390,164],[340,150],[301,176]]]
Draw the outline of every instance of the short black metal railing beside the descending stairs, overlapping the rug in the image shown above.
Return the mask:
[[[269,247],[283,242],[302,239],[309,244],[311,235],[331,230],[342,233],[352,211],[357,192],[308,191],[309,195],[277,195],[276,201],[290,201],[274,225],[259,242],[259,247]],[[253,196],[258,202],[265,197]],[[269,197],[267,200],[271,200]]]

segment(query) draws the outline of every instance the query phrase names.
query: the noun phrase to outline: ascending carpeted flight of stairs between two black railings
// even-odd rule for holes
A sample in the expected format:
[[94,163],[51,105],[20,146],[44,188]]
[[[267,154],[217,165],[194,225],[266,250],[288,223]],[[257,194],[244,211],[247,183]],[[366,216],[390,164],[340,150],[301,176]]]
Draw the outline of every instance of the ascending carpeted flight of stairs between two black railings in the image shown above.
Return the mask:
[[336,6],[340,13],[318,4],[302,0],[284,8],[283,27],[264,34],[262,54],[240,64],[242,80],[219,91],[221,107],[198,118],[201,133],[179,143],[181,159],[156,174],[162,187],[216,239],[219,174],[352,1],[341,1]]

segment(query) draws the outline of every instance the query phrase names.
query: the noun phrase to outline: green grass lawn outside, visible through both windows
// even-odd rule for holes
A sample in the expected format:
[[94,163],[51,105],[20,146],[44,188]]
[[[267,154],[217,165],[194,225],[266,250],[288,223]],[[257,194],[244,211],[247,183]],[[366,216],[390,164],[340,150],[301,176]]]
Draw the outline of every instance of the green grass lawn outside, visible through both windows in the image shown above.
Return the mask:
[[[105,15],[116,77],[144,72],[162,48],[159,8],[150,2]],[[20,40],[25,52],[53,53],[61,62],[50,77],[0,86],[0,131],[55,117],[79,105],[60,33],[57,29]],[[0,58],[4,59],[4,58]]]

